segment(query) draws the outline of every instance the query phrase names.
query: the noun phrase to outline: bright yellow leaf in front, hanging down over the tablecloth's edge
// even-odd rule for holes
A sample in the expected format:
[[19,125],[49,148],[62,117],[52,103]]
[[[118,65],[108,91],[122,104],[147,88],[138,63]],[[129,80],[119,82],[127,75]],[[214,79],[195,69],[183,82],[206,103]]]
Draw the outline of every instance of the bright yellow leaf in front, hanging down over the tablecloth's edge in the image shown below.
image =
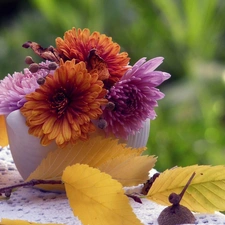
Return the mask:
[[63,172],[73,213],[83,225],[141,225],[124,195],[122,185],[106,173],[76,164]]

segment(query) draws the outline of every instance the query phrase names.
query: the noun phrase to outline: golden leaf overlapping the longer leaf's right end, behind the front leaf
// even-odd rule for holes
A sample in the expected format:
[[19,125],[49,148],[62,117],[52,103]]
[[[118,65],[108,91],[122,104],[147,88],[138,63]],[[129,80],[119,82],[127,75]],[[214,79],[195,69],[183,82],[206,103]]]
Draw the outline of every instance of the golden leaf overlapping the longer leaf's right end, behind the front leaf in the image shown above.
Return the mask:
[[100,165],[99,169],[128,187],[144,183],[155,162],[154,156],[120,155]]

